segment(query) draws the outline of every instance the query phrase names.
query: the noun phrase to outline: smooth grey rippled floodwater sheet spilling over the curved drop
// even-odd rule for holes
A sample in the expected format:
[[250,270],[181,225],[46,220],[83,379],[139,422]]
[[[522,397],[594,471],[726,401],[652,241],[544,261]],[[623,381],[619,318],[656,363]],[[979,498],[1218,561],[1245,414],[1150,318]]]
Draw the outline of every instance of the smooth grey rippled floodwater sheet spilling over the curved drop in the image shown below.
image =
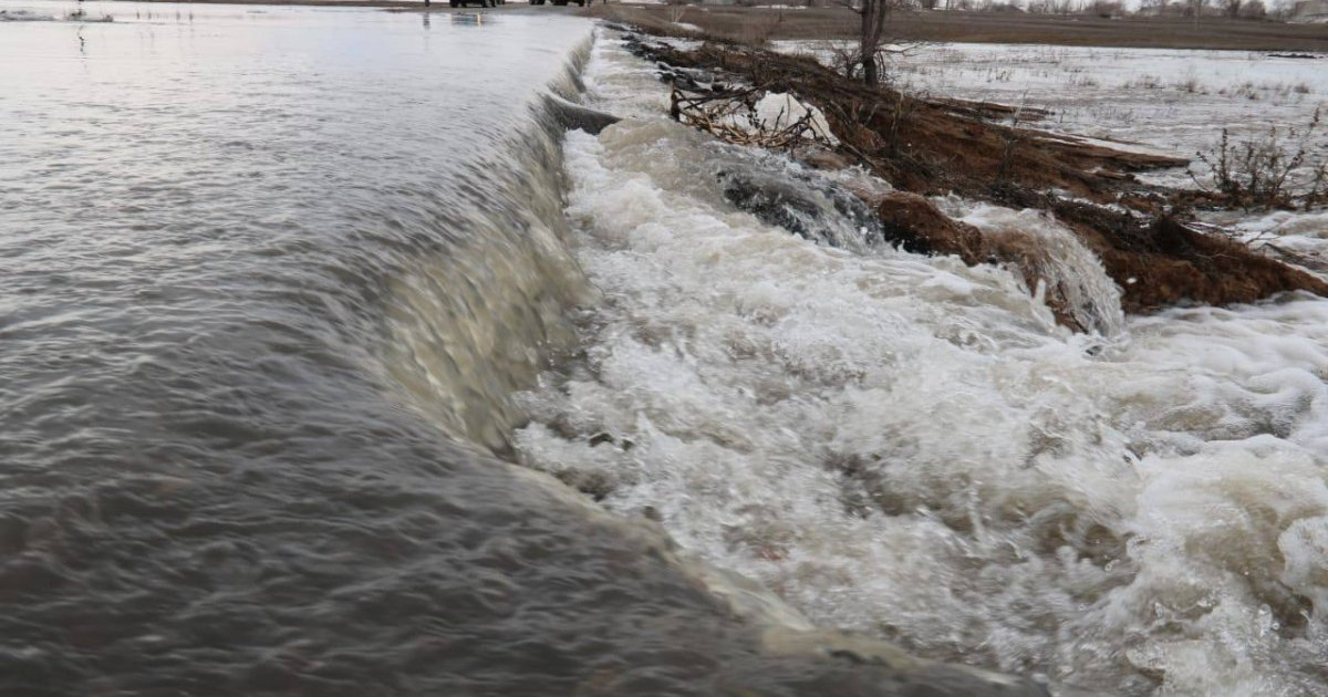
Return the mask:
[[587,293],[588,23],[5,13],[0,694],[891,693],[495,457]]

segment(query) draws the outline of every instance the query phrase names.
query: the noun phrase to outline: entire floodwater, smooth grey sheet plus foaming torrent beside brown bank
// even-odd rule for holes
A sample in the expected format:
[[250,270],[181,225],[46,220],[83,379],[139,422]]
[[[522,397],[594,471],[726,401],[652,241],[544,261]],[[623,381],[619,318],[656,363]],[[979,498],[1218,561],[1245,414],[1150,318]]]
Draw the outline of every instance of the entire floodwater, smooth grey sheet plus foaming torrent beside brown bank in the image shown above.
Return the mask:
[[0,693],[1328,685],[1328,303],[939,202],[1070,335],[572,17],[82,5],[0,24]]

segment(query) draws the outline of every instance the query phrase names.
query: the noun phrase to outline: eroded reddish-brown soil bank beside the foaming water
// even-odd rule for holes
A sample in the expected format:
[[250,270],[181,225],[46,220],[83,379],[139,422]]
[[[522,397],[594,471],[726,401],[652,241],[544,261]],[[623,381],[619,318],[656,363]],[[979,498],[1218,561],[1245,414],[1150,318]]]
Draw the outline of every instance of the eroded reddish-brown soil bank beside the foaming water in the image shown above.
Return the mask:
[[[837,157],[811,163],[855,162],[891,182],[898,193],[865,198],[891,242],[910,250],[954,254],[968,264],[1008,263],[1036,285],[1045,252],[1033,238],[988,239],[924,198],[956,193],[1054,215],[1101,259],[1122,289],[1126,312],[1250,303],[1286,291],[1328,296],[1328,283],[1319,277],[1194,228],[1174,191],[1134,178],[1183,166],[1183,159],[1011,127],[1008,109],[1000,105],[867,88],[811,58],[749,45],[706,41],[681,50],[644,39],[632,40],[632,48],[664,66],[664,78],[681,94],[722,97],[754,85],[818,106],[841,143]],[[1048,288],[1048,300],[1062,324],[1084,329],[1058,307],[1056,288]]]

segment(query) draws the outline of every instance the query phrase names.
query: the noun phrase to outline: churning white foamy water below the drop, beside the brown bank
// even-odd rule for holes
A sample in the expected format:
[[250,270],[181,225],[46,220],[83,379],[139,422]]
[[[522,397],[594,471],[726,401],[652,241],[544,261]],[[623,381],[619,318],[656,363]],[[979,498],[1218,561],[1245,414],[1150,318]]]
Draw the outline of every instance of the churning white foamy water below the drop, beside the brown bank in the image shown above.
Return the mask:
[[522,463],[922,656],[1076,694],[1328,694],[1328,301],[1125,319],[1053,219],[936,200],[1044,240],[1074,335],[1012,271],[740,211],[732,171],[822,175],[669,121],[616,37],[586,84],[627,117],[566,141],[598,297],[583,354],[521,396]]

